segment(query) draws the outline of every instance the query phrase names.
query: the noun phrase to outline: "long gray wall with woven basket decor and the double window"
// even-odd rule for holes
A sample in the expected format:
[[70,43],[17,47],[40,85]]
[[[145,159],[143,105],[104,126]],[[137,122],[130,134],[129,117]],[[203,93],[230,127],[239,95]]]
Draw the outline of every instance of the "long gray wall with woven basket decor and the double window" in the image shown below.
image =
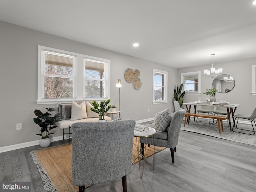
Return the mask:
[[[36,104],[38,45],[111,60],[111,104],[118,106],[118,88],[115,85],[120,78],[123,119],[142,120],[154,117],[156,112],[169,106],[173,109],[172,94],[177,80],[174,68],[1,21],[0,43],[0,147],[39,140],[40,136],[36,136],[39,126],[33,122],[34,109],[56,108],[56,105]],[[126,68],[140,70],[140,90],[125,82]],[[166,104],[152,104],[153,68],[168,71]],[[16,123],[22,123],[22,130],[16,130]],[[55,128],[54,132],[53,137],[62,135],[59,128]]]

